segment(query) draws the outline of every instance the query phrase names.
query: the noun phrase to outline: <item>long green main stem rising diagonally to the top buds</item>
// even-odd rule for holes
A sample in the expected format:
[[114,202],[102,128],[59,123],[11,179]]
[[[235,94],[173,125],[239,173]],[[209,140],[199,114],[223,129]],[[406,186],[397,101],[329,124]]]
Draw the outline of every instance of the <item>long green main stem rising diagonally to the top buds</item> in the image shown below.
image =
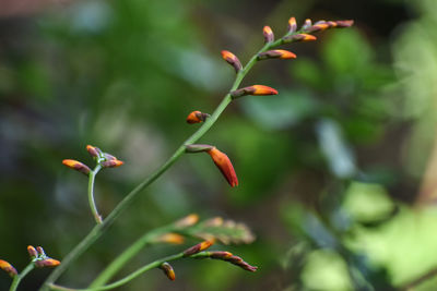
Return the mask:
[[[265,44],[262,49],[260,49],[246,64],[246,66],[238,72],[233,86],[231,87],[231,92],[238,88],[243,78],[250,71],[253,64],[257,62],[257,56],[260,52],[267,51],[273,47],[280,46],[283,44],[282,39],[279,39],[274,43]],[[140,194],[145,187],[152,184],[157,178],[160,178],[175,161],[185,153],[186,145],[196,143],[199,138],[201,138],[211,126],[217,121],[218,117],[226,109],[226,107],[232,101],[231,94],[226,94],[223,98],[222,102],[214,110],[212,116],[206,119],[206,121],[200,126],[185,143],[182,143],[173,156],[163,165],[160,169],[153,172],[149,178],[146,178],[143,182],[141,182],[137,187],[134,187],[125,198],[114,208],[114,210],[108,215],[105,220],[95,226],[90,233],[62,259],[62,264],[59,265],[51,274],[47,277],[44,286],[42,287],[42,291],[47,291],[47,286],[52,284],[73,263],[80,255],[82,255],[105,231],[114,223],[114,221],[118,218],[118,216],[132,203],[132,201]]]

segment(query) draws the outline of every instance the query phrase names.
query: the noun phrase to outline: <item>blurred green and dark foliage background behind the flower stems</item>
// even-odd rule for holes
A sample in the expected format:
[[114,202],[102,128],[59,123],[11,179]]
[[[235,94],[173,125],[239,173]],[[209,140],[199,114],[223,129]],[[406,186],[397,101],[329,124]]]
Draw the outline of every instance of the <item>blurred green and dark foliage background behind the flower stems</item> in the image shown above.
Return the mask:
[[[249,226],[249,245],[214,246],[259,266],[179,260],[119,290],[437,290],[437,9],[434,0],[1,0],[0,257],[26,246],[62,258],[93,227],[87,144],[126,163],[101,172],[104,215],[211,112],[233,69],[299,24],[353,19],[298,58],[258,63],[244,85],[277,96],[232,104],[202,138],[225,151],[231,189],[206,155],[184,156],[135,201],[60,283],[85,287],[137,238],[191,213]],[[120,274],[184,250],[145,248]],[[37,290],[37,270],[20,290]],[[0,274],[0,290],[10,279]]]

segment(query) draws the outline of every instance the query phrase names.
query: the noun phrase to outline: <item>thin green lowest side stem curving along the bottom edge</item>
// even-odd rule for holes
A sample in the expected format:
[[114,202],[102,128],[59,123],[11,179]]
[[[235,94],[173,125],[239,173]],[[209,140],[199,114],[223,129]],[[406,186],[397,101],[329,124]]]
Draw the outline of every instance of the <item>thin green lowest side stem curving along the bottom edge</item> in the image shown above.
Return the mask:
[[137,278],[138,276],[142,275],[143,272],[153,269],[153,268],[157,268],[160,267],[163,263],[165,262],[170,262],[170,260],[175,260],[178,258],[182,258],[184,257],[184,253],[179,253],[173,256],[167,256],[164,257],[162,259],[157,259],[149,265],[145,265],[141,268],[139,268],[138,270],[135,270],[134,272],[131,272],[130,275],[126,276],[125,278],[115,281],[114,283],[110,284],[106,284],[106,286],[102,286],[102,287],[96,287],[96,288],[85,288],[85,289],[73,289],[73,288],[66,288],[66,287],[61,287],[61,286],[57,286],[54,283],[49,283],[49,288],[51,290],[61,290],[61,291],[101,291],[101,290],[110,290],[117,287],[120,287],[122,284],[128,283],[129,281],[133,280],[134,278]]

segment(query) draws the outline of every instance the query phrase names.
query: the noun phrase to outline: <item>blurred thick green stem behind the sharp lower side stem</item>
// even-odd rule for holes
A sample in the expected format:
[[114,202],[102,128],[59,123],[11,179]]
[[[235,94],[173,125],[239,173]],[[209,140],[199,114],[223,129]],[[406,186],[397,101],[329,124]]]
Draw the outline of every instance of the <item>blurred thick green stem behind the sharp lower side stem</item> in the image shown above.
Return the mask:
[[116,259],[114,259],[90,284],[90,288],[96,288],[107,283],[114,275],[117,274],[132,257],[134,257],[144,246],[151,243],[154,239],[170,230],[170,227],[155,229],[145,233],[128,248],[125,250]]

